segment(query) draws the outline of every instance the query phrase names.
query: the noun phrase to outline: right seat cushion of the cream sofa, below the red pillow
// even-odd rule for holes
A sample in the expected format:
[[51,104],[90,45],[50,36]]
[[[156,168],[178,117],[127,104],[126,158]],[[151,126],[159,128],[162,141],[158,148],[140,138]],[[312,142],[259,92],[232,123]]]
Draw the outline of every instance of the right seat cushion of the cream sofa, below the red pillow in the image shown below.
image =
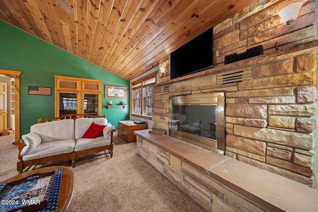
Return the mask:
[[75,151],[82,151],[86,149],[91,149],[99,146],[110,145],[110,139],[105,139],[103,136],[97,137],[95,139],[78,139],[75,144]]

